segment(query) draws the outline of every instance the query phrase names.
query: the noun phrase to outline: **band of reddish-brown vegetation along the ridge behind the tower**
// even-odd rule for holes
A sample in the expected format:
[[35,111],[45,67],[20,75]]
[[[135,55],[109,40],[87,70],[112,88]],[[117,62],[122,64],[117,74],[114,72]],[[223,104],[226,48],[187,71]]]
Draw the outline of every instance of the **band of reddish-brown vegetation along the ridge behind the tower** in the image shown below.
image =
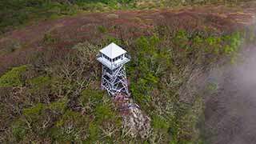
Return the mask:
[[[187,31],[205,30],[207,27],[215,33],[229,32],[254,22],[256,6],[253,6],[254,3],[246,3],[239,8],[202,6],[182,10],[116,11],[40,22],[2,35],[0,49],[5,49],[5,42],[10,39],[20,42],[22,47],[8,54],[0,53],[0,74],[11,66],[29,62],[30,57],[40,50],[54,48],[58,52],[78,42],[100,43],[110,36],[121,40],[134,39],[149,35],[154,26]],[[99,26],[108,33],[98,30]]]

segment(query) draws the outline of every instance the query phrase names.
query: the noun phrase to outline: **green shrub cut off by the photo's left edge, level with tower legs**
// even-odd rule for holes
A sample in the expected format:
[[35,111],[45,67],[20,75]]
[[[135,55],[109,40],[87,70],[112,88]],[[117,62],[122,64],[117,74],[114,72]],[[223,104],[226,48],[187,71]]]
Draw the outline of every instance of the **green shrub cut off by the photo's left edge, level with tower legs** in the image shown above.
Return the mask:
[[3,74],[0,78],[0,87],[22,86],[22,74],[26,69],[27,66],[18,66]]

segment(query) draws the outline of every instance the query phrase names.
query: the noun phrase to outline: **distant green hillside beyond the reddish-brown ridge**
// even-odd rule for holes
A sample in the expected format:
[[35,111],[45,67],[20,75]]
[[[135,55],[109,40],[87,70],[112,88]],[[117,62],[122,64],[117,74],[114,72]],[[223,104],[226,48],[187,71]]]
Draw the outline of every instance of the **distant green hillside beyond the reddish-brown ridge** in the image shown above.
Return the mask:
[[8,0],[0,2],[0,34],[15,26],[82,12],[148,10],[209,3],[235,4],[249,0]]

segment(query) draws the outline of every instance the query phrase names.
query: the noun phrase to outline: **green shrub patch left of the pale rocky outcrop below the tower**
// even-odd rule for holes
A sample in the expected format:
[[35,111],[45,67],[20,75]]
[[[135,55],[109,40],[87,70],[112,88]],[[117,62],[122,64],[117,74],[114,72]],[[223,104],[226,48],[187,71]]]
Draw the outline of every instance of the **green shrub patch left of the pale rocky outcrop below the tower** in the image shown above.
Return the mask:
[[[82,91],[79,102],[86,108],[86,114],[91,117],[87,128],[89,137],[86,142],[97,142],[101,137],[101,141],[110,142],[109,135],[102,134],[102,130],[108,130],[109,126],[114,126],[114,129],[117,130],[121,128],[121,119],[118,117],[110,98],[103,94],[101,90],[88,88]],[[118,131],[115,133],[118,133]]]

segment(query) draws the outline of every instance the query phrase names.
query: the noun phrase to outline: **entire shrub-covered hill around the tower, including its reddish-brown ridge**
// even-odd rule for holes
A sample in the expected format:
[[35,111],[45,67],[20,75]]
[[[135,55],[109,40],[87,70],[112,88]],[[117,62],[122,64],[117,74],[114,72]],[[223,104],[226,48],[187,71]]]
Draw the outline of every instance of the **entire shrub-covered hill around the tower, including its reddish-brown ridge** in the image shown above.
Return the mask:
[[[24,2],[17,10],[30,13],[54,10],[48,7],[53,3],[61,10],[80,9],[89,1],[31,1],[38,6],[33,9]],[[133,6],[133,1],[89,2],[102,8],[125,3]],[[5,34],[0,39],[0,143],[208,142],[204,100],[219,89],[208,80],[210,70],[238,62],[242,46],[256,38],[252,16],[242,13],[246,10],[218,8],[82,14]],[[34,14],[40,13],[28,15]],[[100,90],[96,54],[110,42],[132,57],[126,66],[130,92],[151,118],[146,138],[130,135]]]

